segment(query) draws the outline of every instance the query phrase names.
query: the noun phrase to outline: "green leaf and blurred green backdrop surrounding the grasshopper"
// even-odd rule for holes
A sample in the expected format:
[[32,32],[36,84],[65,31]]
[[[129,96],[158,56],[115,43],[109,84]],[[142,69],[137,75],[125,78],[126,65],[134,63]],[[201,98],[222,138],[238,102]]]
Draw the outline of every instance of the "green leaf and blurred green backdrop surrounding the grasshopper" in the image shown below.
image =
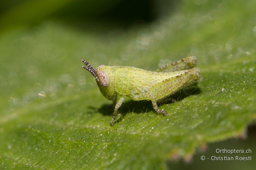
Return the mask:
[[[254,0],[0,1],[0,169],[252,169],[255,9]],[[202,78],[160,106],[168,116],[127,99],[114,127],[80,61],[156,70],[187,55]],[[234,156],[252,161],[200,159],[216,148],[250,148]]]

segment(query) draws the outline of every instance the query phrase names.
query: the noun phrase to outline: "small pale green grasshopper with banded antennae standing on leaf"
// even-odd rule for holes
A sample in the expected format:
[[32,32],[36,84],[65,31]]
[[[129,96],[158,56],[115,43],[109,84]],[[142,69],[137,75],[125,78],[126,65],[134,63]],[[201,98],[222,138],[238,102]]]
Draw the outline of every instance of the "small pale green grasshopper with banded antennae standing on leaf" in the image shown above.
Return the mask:
[[[156,71],[147,71],[135,67],[100,65],[95,70],[82,60],[83,66],[96,79],[100,92],[115,105],[113,118],[116,119],[118,108],[121,107],[126,96],[132,100],[151,100],[158,114],[166,115],[160,110],[156,102],[163,100],[182,88],[200,79],[200,70],[193,68],[197,64],[195,56],[188,56],[180,61],[163,66]],[[117,94],[120,99],[117,102]]]

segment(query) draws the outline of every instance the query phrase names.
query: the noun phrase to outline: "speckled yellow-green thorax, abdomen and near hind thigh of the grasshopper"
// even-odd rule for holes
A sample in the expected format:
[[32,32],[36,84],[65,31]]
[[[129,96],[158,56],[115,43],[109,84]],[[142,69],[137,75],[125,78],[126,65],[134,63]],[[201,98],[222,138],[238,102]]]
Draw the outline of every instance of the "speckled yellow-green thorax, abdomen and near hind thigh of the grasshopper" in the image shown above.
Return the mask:
[[158,101],[183,88],[190,79],[188,72],[193,74],[195,69],[158,73],[135,67],[116,66],[111,67],[111,70],[115,91],[120,96],[126,95],[132,100],[152,100],[153,95]]

